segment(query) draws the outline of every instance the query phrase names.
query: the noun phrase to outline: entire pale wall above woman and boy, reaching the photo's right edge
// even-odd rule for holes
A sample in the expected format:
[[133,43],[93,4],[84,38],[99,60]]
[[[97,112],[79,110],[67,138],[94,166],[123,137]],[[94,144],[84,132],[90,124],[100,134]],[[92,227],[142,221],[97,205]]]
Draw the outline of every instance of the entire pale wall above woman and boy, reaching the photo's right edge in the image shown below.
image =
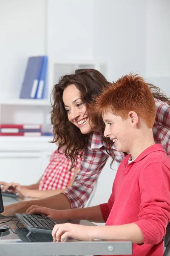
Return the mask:
[[110,81],[132,71],[170,96],[169,14],[169,0],[94,0],[94,57]]

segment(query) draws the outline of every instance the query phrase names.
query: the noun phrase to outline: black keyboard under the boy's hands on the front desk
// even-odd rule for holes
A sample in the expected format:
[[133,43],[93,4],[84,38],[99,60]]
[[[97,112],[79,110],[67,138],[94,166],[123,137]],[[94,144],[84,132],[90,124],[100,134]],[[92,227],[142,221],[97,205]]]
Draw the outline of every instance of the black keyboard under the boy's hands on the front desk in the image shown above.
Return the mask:
[[16,213],[15,216],[31,232],[51,234],[56,221],[41,214]]

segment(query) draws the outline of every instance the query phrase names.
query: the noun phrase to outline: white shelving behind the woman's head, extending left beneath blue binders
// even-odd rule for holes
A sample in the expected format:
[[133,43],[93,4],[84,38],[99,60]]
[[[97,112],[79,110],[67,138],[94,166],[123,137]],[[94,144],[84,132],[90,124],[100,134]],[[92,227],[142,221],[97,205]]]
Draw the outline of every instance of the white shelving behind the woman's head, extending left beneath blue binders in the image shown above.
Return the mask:
[[82,68],[94,68],[104,75],[106,73],[106,65],[95,60],[49,58],[48,64],[48,99],[0,99],[0,123],[38,123],[42,124],[43,131],[48,132],[52,108],[50,95],[59,77]]

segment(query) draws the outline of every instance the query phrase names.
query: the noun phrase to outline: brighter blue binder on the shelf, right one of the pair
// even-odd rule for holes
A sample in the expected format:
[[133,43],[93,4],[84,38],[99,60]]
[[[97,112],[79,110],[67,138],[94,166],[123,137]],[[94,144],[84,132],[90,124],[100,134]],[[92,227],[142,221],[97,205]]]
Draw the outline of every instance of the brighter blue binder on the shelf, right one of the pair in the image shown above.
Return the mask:
[[40,77],[38,81],[37,91],[34,99],[45,99],[46,97],[46,80],[47,80],[48,56],[43,56]]

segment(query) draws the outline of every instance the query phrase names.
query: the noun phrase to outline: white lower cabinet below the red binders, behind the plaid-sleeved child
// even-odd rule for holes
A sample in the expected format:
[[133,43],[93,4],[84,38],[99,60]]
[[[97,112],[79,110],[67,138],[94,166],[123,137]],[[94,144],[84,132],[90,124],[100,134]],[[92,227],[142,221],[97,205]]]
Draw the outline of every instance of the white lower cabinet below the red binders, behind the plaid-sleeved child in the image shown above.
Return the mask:
[[36,183],[57,148],[53,137],[0,137],[0,180]]

